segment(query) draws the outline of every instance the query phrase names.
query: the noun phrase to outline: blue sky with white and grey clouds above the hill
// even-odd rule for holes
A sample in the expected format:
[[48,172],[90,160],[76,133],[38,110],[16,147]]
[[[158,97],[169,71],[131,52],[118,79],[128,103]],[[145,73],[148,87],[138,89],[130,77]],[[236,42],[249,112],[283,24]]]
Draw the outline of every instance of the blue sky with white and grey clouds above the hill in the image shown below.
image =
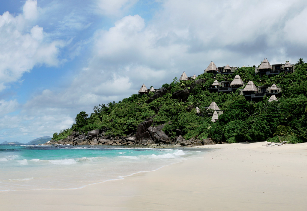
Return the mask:
[[305,0],[0,0],[0,143],[216,66],[307,60]]

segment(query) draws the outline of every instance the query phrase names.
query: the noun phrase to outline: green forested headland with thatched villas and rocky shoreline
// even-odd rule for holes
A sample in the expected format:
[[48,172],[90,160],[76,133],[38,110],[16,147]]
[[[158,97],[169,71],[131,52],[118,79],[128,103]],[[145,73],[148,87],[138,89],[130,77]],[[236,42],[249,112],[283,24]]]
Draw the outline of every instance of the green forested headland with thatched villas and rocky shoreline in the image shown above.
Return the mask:
[[[192,75],[192,74],[191,74]],[[81,111],[47,144],[197,146],[307,140],[307,63],[217,67],[164,84],[143,84],[118,103]]]

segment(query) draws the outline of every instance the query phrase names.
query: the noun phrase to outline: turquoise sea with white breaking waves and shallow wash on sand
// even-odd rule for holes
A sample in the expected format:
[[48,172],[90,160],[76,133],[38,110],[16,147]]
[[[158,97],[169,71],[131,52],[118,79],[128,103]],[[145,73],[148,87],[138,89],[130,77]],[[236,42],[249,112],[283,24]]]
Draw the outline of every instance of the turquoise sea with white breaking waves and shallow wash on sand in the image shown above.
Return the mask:
[[0,191],[82,188],[202,153],[199,149],[0,145]]

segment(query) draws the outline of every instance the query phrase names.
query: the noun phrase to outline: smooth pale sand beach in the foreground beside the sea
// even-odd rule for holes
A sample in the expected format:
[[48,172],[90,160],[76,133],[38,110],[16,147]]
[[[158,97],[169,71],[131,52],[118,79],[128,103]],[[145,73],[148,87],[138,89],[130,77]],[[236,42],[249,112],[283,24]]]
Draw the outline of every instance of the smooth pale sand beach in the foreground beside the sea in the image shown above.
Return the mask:
[[82,189],[0,192],[0,210],[305,211],[306,143],[265,144],[201,146],[212,150],[157,171]]

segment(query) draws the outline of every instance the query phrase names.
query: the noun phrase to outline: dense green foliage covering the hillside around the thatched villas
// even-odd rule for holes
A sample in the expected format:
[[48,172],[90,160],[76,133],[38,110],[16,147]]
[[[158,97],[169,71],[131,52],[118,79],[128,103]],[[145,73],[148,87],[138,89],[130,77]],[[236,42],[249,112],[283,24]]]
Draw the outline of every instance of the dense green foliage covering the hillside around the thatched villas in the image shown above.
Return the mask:
[[[273,85],[282,87],[282,96],[278,101],[268,102],[268,97],[254,103],[247,101],[236,92],[210,93],[208,88],[214,80],[230,81],[239,74],[243,82],[253,81],[256,86]],[[216,141],[288,141],[304,142],[307,139],[307,63],[302,59],[296,64],[294,73],[280,73],[276,76],[255,76],[254,67],[241,67],[232,75],[223,76],[204,73],[196,79],[206,79],[204,84],[195,85],[194,81],[181,81],[177,78],[162,87],[169,88],[163,97],[146,103],[153,95],[134,94],[118,103],[101,104],[93,108],[88,116],[84,111],[76,116],[72,128],[53,135],[54,140],[66,138],[73,130],[86,133],[89,130],[101,129],[108,136],[134,134],[137,126],[145,119],[153,119],[153,126],[166,124],[164,132],[171,138],[182,135],[212,138]],[[185,102],[173,99],[172,94],[188,88],[190,95]],[[215,101],[224,114],[217,122],[211,121],[204,107]],[[193,105],[192,111],[186,108]],[[201,115],[196,115],[199,107]],[[203,109],[202,109],[203,108]]]

